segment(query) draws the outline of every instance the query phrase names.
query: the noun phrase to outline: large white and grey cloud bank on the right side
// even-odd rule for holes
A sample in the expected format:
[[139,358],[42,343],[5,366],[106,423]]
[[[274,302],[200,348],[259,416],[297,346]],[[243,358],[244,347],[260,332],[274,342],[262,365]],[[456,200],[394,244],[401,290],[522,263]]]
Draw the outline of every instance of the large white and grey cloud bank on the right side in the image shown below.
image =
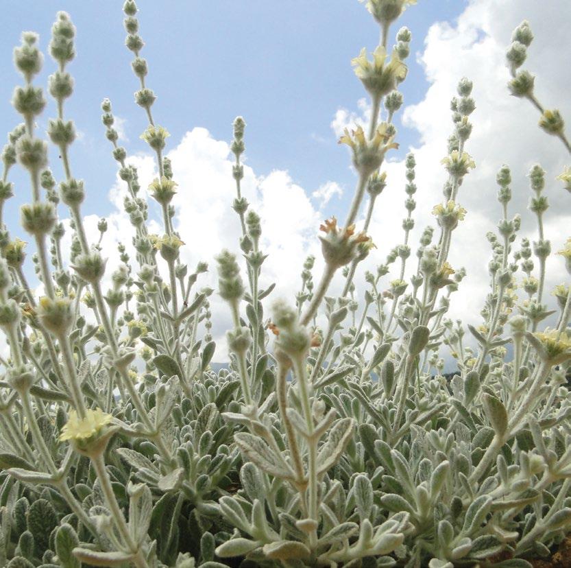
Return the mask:
[[[457,22],[435,23],[430,27],[424,49],[417,54],[429,87],[424,99],[419,104],[405,106],[403,114],[404,125],[420,134],[420,142],[411,148],[417,161],[418,186],[413,243],[424,226],[435,224],[430,211],[442,198],[446,172],[439,162],[446,154],[446,140],[452,132],[450,98],[461,77],[467,76],[474,82],[476,110],[470,117],[474,130],[466,150],[474,157],[476,169],[465,178],[459,192],[459,202],[468,213],[454,232],[450,254],[452,265],[465,266],[468,277],[454,296],[450,311],[454,317],[476,320],[478,307],[485,298],[489,260],[485,233],[496,230],[501,214],[495,176],[502,164],[512,170],[513,200],[509,215],[522,215],[520,236],[537,239],[535,215],[526,209],[531,194],[526,174],[535,163],[546,170],[546,195],[551,204],[546,213],[546,238],[550,239],[552,249],[558,250],[571,235],[571,196],[562,189],[561,182],[555,181],[569,157],[561,141],[537,128],[537,110],[529,102],[509,95],[506,87],[509,71],[505,67],[511,32],[523,19],[528,19],[535,40],[524,68],[536,75],[535,92],[539,100],[547,108],[559,108],[563,117],[571,117],[571,102],[566,94],[571,71],[563,58],[571,41],[564,29],[552,25],[554,21],[570,18],[571,5],[563,0],[548,5],[533,0],[502,3],[473,0]],[[367,110],[366,104],[360,102],[358,110],[359,113],[339,110],[332,128],[339,131],[359,120],[359,114]],[[404,216],[404,164],[387,163],[386,169],[389,184],[371,227],[380,252],[396,244],[394,235],[400,231],[400,216],[394,212],[398,207]],[[550,258],[547,289],[565,279],[561,259]]]

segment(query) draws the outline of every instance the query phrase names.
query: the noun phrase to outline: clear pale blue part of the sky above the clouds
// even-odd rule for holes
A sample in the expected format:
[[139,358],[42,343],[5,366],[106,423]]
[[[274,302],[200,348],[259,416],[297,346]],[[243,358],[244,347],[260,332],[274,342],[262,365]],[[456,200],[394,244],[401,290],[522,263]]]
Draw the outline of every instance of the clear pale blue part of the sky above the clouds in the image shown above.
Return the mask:
[[[19,44],[21,31],[38,32],[45,51],[57,10],[69,12],[77,26],[77,58],[69,69],[75,92],[66,104],[66,115],[82,132],[71,155],[75,176],[84,178],[88,189],[84,211],[99,215],[110,209],[104,197],[115,178],[100,122],[101,99],[109,97],[114,113],[126,120],[127,150],[146,150],[138,139],[145,117],[133,102],[137,82],[130,69],[131,54],[123,44],[121,5],[118,0],[3,2],[0,130],[4,132],[19,121],[9,101],[14,85],[21,84],[12,64],[12,49]],[[354,109],[364,96],[350,59],[361,47],[376,47],[378,26],[362,4],[141,0],[138,6],[148,84],[158,95],[154,114],[171,132],[171,145],[195,126],[208,128],[215,139],[228,140],[232,120],[243,115],[248,125],[247,163],[258,174],[285,169],[307,191],[328,180],[352,187],[348,153],[337,146],[330,122],[337,108]],[[422,50],[428,27],[437,20],[453,21],[464,7],[464,0],[421,0],[402,17],[400,23],[413,32],[409,78],[402,87],[405,104],[419,102],[426,90],[415,52]],[[54,68],[47,56],[37,84],[45,86]],[[39,121],[40,130],[45,132],[45,123],[54,114],[50,102]],[[400,128],[399,139],[404,154],[417,140],[417,132]],[[57,176],[55,152],[51,167]],[[8,219],[28,195],[19,171],[12,179],[17,198],[7,206]],[[350,191],[345,191],[344,200],[349,198]],[[344,200],[332,202],[332,207],[341,209]]]

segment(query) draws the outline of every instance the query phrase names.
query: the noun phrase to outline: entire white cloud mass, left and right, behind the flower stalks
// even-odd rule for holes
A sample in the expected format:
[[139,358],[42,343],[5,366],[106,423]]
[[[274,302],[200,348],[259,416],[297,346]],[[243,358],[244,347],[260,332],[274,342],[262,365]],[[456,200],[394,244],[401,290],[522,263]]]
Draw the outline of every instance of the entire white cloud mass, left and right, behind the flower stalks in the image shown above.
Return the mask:
[[[487,289],[489,248],[485,233],[495,230],[500,217],[496,201],[496,171],[507,163],[513,174],[513,200],[509,215],[522,214],[520,235],[536,239],[534,216],[526,210],[529,200],[529,180],[526,173],[534,163],[546,169],[546,194],[551,209],[546,215],[546,237],[557,250],[571,233],[571,196],[564,191],[555,176],[561,172],[568,156],[557,139],[548,137],[537,128],[537,111],[529,103],[511,97],[507,91],[509,74],[505,67],[505,48],[513,27],[529,19],[535,41],[525,66],[535,73],[537,96],[548,108],[558,106],[564,117],[571,117],[571,102],[566,90],[571,82],[571,70],[564,65],[564,54],[571,40],[564,26],[553,21],[571,21],[571,5],[566,0],[537,3],[535,0],[472,0],[454,23],[435,23],[428,32],[424,47],[417,52],[428,80],[428,91],[414,106],[404,106],[403,123],[419,133],[417,146],[411,148],[417,162],[414,212],[416,227],[411,237],[415,245],[420,232],[428,224],[435,225],[430,211],[441,201],[441,187],[446,172],[440,165],[446,154],[447,138],[452,132],[450,98],[458,80],[467,76],[474,82],[476,110],[471,120],[474,130],[467,151],[476,161],[476,169],[467,176],[459,193],[459,202],[468,213],[454,234],[450,261],[454,267],[465,266],[468,276],[452,302],[451,315],[477,322],[478,309]],[[356,102],[354,110],[340,109],[332,120],[332,129],[340,134],[346,126],[366,121],[367,101]],[[222,248],[238,252],[241,235],[239,220],[231,208],[234,196],[232,161],[228,144],[212,138],[208,130],[194,128],[169,152],[177,180],[175,196],[177,216],[175,227],[180,231],[184,261],[190,268],[200,260],[210,260],[210,272],[199,285],[215,287],[215,266],[211,259]],[[136,156],[141,185],[146,187],[156,176],[154,162],[149,156]],[[388,161],[385,169],[389,184],[378,200],[370,233],[378,250],[369,256],[369,268],[384,261],[386,253],[402,240],[401,219],[404,211],[404,163]],[[295,173],[295,172],[294,172]],[[332,181],[324,182],[311,196],[296,185],[286,171],[254,172],[245,166],[243,195],[262,217],[262,249],[269,254],[264,265],[263,286],[276,282],[277,294],[291,298],[300,285],[301,265],[308,254],[317,257],[315,274],[322,263],[316,238],[319,220],[326,204],[341,196],[341,188]],[[121,213],[125,189],[118,180],[111,191],[118,211],[111,215],[110,229],[104,245],[121,240],[128,244],[127,218]],[[312,199],[313,198],[313,201]],[[323,209],[323,211],[321,211]],[[158,211],[155,217],[159,219]],[[292,222],[295,220],[295,222]],[[361,220],[362,221],[362,220]],[[87,220],[90,233],[97,233],[95,217]],[[154,230],[159,231],[158,225]],[[411,265],[415,259],[411,261]],[[363,269],[356,285],[363,292]],[[549,290],[564,281],[563,263],[550,259],[548,263]],[[338,279],[332,292],[341,287]],[[276,293],[274,293],[276,294]],[[226,306],[212,296],[212,319],[215,339],[220,344],[217,359],[225,356],[223,335],[230,325]]]

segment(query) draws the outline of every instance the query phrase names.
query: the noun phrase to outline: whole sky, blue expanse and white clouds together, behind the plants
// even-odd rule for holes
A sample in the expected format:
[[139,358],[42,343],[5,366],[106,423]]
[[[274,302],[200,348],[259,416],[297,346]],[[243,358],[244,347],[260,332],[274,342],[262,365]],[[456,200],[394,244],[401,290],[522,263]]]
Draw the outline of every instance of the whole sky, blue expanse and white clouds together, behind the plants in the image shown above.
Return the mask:
[[[75,176],[86,183],[83,211],[93,239],[99,216],[109,220],[104,240],[110,251],[108,274],[118,262],[112,248],[117,241],[129,244],[130,225],[121,210],[125,187],[117,178],[100,121],[104,97],[112,101],[121,143],[138,167],[143,187],[156,175],[152,156],[139,139],[147,123],[143,110],[134,104],[138,83],[130,69],[132,54],[124,46],[121,5],[120,1],[5,0],[0,36],[0,131],[8,132],[20,121],[10,106],[12,90],[21,84],[12,64],[20,33],[38,32],[45,49],[58,10],[69,12],[77,26],[77,57],[69,67],[75,92],[65,110],[80,132],[71,149],[71,163]],[[263,283],[276,281],[276,294],[293,301],[302,261],[309,253],[317,257],[314,279],[319,277],[319,223],[330,215],[343,217],[352,198],[355,174],[348,150],[337,139],[345,126],[354,128],[367,113],[365,91],[350,60],[361,47],[369,51],[376,47],[378,25],[356,0],[143,0],[138,6],[145,41],[141,55],[149,64],[147,84],[158,95],[154,117],[171,133],[167,152],[179,183],[175,226],[187,244],[185,261],[191,266],[211,261],[223,247],[239,252],[240,229],[230,207],[234,189],[228,143],[232,120],[243,115],[244,192],[263,218],[262,247],[270,254]],[[500,217],[495,175],[503,163],[512,168],[514,197],[509,212],[522,215],[521,235],[537,238],[533,215],[526,210],[526,173],[539,162],[547,172],[546,195],[552,204],[546,236],[554,250],[570,236],[571,195],[555,181],[570,160],[559,141],[537,128],[535,109],[511,97],[506,87],[505,49],[522,19],[529,19],[535,34],[524,67],[537,76],[538,98],[548,108],[559,108],[563,117],[571,117],[571,68],[566,64],[571,38],[564,26],[553,25],[571,21],[571,5],[565,0],[419,0],[391,29],[394,38],[398,27],[406,25],[413,40],[409,73],[401,88],[404,105],[396,116],[400,148],[391,152],[385,165],[389,183],[370,230],[378,249],[356,276],[361,294],[364,269],[384,262],[388,250],[402,240],[403,159],[411,150],[419,188],[412,244],[424,226],[435,225],[430,211],[441,201],[446,179],[439,162],[452,132],[450,98],[463,76],[474,81],[474,130],[466,149],[476,169],[459,195],[468,213],[455,232],[450,261],[454,268],[464,265],[468,276],[452,301],[451,316],[479,323],[490,257],[485,233],[494,230]],[[55,64],[46,57],[36,83],[45,86],[54,70]],[[40,132],[55,114],[50,102],[38,120]],[[57,152],[52,150],[50,157],[60,178]],[[29,184],[19,167],[10,178],[16,197],[6,206],[5,219],[14,235],[24,237],[17,230],[17,217],[19,206],[29,200]],[[60,215],[66,216],[63,209]],[[154,227],[158,230],[158,225]],[[203,285],[215,283],[210,264]],[[548,268],[548,290],[568,279],[559,259],[550,259]],[[332,293],[340,288],[337,278]],[[212,312],[223,356],[223,333],[230,318],[226,306],[214,297]]]

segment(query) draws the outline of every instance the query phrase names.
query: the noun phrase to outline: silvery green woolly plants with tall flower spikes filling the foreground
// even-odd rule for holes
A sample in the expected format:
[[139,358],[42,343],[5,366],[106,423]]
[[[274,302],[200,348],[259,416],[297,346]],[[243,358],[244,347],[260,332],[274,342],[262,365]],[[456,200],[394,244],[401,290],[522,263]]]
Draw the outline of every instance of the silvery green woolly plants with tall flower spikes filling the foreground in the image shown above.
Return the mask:
[[[274,300],[268,314],[276,286],[260,287],[263,223],[241,188],[244,119],[233,125],[236,193],[228,196],[241,237],[214,259],[215,292],[199,287],[208,265],[192,270],[180,254],[169,134],[153,112],[137,7],[127,0],[125,45],[147,125],[141,137],[156,158],[147,193],[159,206],[162,233],[149,233],[149,204],[105,99],[101,120],[125,184],[136,251],[132,259],[119,244],[120,263],[108,274],[106,259],[115,253],[101,247],[107,222],[97,225],[99,240],[88,241],[88,188],[71,160],[75,129],[65,102],[73,94],[75,27],[60,12],[49,43],[57,117],[47,134],[62,158],[59,182],[35,126],[46,104],[34,84],[43,56],[38,36],[23,34],[14,61],[24,84],[12,101],[23,123],[2,152],[0,215],[18,164],[32,190],[21,224],[35,245],[38,285],[25,276],[25,241],[0,217],[0,326],[10,353],[0,359],[1,565],[526,567],[526,558],[548,556],[571,532],[571,397],[564,386],[571,287],[557,286],[557,309],[548,309],[548,200],[539,165],[529,172],[537,241],[518,238],[511,172],[503,166],[498,230],[486,235],[483,322],[446,317],[465,277],[448,255],[466,214],[461,186],[475,167],[465,149],[475,108],[469,80],[459,81],[451,103],[437,227],[422,230],[413,254],[416,164],[408,154],[404,235],[385,263],[365,272],[362,294],[354,283],[374,248],[368,232],[387,185],[382,164],[397,147],[393,117],[412,38],[402,27],[391,45],[391,30],[413,3],[367,1],[379,45],[353,65],[372,112],[368,125],[340,140],[357,176],[353,199],[342,225],[331,217],[320,227],[323,273],[313,273],[308,257],[295,301]],[[533,39],[529,24],[512,39],[509,90],[529,99],[542,113],[539,126],[570,151],[560,113],[545,110],[533,76],[518,71]],[[570,171],[559,176],[566,189]],[[559,255],[571,274],[571,240]],[[329,296],[335,277],[342,292]],[[219,372],[210,365],[214,293],[233,322],[230,363]],[[555,327],[545,329],[549,317]],[[447,349],[458,368],[451,378],[442,373]]]

